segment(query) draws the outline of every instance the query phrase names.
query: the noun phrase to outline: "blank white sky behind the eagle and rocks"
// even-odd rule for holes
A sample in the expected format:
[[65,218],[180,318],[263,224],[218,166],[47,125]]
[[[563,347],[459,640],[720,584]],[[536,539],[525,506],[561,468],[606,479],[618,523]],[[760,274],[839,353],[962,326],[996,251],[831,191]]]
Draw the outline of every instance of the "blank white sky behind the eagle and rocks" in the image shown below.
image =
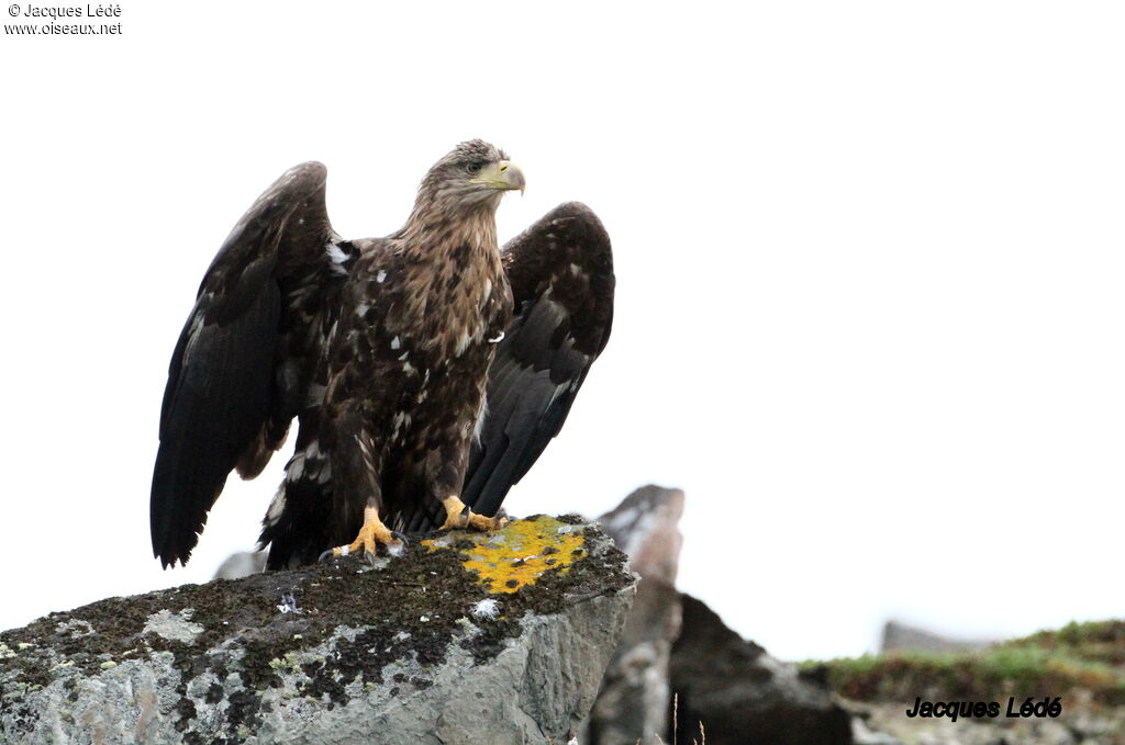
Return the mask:
[[682,588],[783,657],[1125,614],[1125,7],[415,4],[125,0],[119,37],[0,39],[0,628],[252,544],[284,458],[187,570],[151,558],[204,270],[295,163],[376,236],[477,136],[528,176],[502,238],[583,200],[619,282],[511,511],[683,487]]

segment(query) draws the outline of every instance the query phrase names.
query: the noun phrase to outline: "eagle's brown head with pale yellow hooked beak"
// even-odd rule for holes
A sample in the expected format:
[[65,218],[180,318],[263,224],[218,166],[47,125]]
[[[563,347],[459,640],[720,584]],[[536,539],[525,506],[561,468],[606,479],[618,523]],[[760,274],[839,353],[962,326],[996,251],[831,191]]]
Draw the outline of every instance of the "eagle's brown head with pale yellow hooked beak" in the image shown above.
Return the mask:
[[523,172],[483,139],[461,143],[434,163],[418,187],[415,213],[495,212],[505,191],[523,191]]

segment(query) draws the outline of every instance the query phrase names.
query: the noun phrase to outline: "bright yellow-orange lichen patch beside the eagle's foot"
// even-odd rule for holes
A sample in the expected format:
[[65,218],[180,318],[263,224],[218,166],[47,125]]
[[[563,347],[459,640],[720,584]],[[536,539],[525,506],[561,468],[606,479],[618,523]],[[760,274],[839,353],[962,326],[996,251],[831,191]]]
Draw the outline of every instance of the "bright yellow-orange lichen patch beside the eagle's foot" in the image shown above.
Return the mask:
[[[471,546],[461,543],[469,540]],[[461,544],[454,547],[454,542]],[[475,570],[489,592],[515,592],[534,584],[546,572],[565,574],[584,554],[585,534],[576,526],[552,517],[515,520],[495,533],[458,530],[422,545],[430,551],[454,548],[465,556],[465,569]]]

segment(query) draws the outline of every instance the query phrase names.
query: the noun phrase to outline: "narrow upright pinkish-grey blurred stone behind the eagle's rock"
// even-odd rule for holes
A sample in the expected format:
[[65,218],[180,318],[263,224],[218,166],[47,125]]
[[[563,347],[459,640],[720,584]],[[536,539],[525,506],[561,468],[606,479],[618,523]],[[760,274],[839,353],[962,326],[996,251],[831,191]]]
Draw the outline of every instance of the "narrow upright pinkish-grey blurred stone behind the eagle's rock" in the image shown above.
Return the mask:
[[680,634],[677,524],[684,492],[644,487],[598,523],[640,574],[629,620],[591,711],[583,745],[656,744],[665,736],[672,693],[668,660]]

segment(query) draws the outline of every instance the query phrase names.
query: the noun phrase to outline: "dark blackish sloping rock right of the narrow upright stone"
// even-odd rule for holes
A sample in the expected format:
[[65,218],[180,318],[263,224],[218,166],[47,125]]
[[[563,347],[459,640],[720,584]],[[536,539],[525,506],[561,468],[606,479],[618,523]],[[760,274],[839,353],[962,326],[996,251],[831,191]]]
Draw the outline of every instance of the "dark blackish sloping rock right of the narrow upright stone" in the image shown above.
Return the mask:
[[727,628],[703,602],[683,598],[683,628],[672,648],[672,689],[678,696],[678,739],[708,745],[848,745],[848,714],[822,681]]

